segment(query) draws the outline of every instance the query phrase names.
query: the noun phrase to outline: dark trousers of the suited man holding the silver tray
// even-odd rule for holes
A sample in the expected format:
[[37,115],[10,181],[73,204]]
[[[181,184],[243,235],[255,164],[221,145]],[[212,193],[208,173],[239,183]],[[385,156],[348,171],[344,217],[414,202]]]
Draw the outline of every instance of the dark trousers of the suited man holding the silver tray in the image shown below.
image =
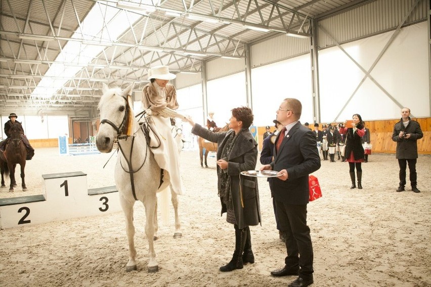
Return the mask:
[[285,233],[287,257],[284,263],[289,269],[297,269],[299,277],[313,276],[313,246],[310,228],[307,226],[307,205],[292,205],[276,201],[280,230]]

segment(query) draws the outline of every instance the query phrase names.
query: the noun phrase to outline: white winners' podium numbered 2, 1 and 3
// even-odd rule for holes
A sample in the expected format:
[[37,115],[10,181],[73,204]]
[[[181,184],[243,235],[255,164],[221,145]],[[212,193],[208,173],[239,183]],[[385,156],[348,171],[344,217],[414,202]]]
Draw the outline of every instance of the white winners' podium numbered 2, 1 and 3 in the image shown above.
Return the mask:
[[42,175],[44,194],[0,199],[0,228],[118,212],[115,186],[87,188],[81,171]]

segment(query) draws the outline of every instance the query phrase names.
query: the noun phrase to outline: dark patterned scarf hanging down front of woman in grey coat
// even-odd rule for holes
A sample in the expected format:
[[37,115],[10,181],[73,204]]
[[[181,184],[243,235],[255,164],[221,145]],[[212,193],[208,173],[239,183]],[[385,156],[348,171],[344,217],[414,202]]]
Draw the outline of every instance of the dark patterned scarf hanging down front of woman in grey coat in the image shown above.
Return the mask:
[[[235,134],[235,132],[232,132],[227,135],[228,138],[226,139],[226,144],[223,147],[221,154],[222,159],[229,159],[229,154],[231,153],[232,148],[235,146],[235,141],[238,139],[238,135],[246,130],[248,129],[242,128],[237,134]],[[233,205],[231,200],[231,177],[221,168],[219,168],[218,170],[218,177],[219,197],[221,198],[222,202],[226,204],[228,209],[232,209]]]

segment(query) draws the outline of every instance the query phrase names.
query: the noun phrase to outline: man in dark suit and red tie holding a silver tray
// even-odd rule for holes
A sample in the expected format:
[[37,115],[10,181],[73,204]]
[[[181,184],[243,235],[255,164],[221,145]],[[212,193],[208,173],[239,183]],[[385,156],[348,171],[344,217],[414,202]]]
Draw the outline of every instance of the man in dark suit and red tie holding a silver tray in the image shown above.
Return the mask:
[[273,276],[298,275],[289,287],[313,283],[313,246],[307,226],[310,173],[320,168],[313,131],[301,125],[301,103],[285,99],[277,110],[277,120],[284,126],[275,140],[274,161],[261,170],[276,170],[272,181],[280,229],[285,232],[287,257],[282,269]]

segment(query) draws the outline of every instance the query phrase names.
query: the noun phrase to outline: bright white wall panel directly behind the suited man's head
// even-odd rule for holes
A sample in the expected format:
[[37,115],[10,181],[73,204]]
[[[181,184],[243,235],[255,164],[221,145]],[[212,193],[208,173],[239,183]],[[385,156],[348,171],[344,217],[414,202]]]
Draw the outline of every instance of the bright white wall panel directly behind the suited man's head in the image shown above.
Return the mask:
[[310,55],[299,56],[251,70],[254,125],[273,125],[276,111],[285,98],[303,105],[302,123],[313,122]]

